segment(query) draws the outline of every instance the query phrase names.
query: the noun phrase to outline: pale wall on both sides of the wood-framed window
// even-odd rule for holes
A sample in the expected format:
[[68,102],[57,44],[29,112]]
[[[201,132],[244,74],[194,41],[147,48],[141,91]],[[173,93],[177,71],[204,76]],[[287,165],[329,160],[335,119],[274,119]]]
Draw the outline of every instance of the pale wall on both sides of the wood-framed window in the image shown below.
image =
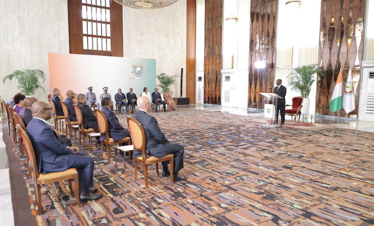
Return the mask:
[[[16,69],[40,69],[47,77],[46,92],[40,89],[34,96],[47,101],[47,53],[69,53],[67,0],[0,1],[0,15],[0,79]],[[158,74],[186,71],[186,0],[157,10],[123,7],[123,27],[124,57],[156,59]],[[171,89],[178,95],[179,83],[177,79]],[[2,98],[14,96],[17,84],[14,79],[1,81]],[[185,95],[185,81],[183,90]]]

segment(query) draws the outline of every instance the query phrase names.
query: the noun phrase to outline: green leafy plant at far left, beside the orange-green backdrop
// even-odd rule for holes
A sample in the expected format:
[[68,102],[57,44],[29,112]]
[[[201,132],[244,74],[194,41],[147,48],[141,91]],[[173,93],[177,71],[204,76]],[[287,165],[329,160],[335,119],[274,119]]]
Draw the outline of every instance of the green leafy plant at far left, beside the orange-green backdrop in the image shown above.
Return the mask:
[[17,78],[18,86],[17,88],[24,94],[24,95],[33,95],[35,94],[38,88],[42,88],[44,91],[45,89],[39,82],[39,78],[45,81],[46,77],[44,72],[41,70],[30,70],[26,69],[24,71],[15,70],[12,74],[9,74],[4,77],[3,83],[7,79],[12,80],[13,78]]

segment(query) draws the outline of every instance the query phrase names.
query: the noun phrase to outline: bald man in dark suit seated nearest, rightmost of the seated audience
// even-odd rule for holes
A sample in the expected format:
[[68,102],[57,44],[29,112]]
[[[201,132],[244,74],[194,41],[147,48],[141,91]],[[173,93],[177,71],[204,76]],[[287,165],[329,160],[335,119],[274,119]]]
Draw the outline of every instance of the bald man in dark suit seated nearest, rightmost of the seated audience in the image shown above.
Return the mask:
[[[167,154],[174,154],[174,181],[185,180],[187,177],[178,175],[179,170],[183,169],[183,153],[184,148],[179,144],[170,144],[165,138],[163,132],[161,132],[157,120],[148,115],[148,104],[149,98],[147,96],[142,96],[138,99],[139,111],[134,115],[134,118],[138,120],[147,136],[147,157],[148,154],[155,156],[157,158],[162,158]],[[134,158],[142,156],[141,151],[134,150]],[[162,176],[169,176],[170,172],[168,169],[169,161],[162,162],[164,171]]]

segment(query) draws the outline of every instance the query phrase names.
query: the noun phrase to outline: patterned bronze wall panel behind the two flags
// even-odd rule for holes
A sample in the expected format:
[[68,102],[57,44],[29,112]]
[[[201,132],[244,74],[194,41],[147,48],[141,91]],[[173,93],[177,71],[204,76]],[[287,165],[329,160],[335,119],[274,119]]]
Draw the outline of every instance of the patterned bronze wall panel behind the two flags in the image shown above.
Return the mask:
[[[350,116],[357,118],[365,2],[366,0],[322,1],[318,64],[323,69],[324,76],[318,78],[318,114],[331,115],[329,102],[339,70],[343,67],[344,84],[348,71],[352,71],[356,108]],[[334,114],[337,115],[337,111]],[[341,110],[340,116],[346,116],[344,110]]]

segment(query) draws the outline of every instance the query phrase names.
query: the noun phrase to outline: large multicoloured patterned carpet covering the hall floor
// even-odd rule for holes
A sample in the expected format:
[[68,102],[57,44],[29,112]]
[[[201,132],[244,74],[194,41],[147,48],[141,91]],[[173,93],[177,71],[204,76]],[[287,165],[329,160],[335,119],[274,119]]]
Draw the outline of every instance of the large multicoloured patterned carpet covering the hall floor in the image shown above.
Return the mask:
[[[66,183],[42,189],[40,225],[369,225],[374,224],[374,137],[338,128],[269,128],[248,117],[194,109],[152,113],[171,142],[185,147],[184,182],[149,168],[149,188],[131,161],[95,159],[104,195],[81,208]],[[125,125],[126,115],[118,118]],[[127,126],[127,125],[126,125]],[[15,146],[18,150],[18,146]],[[113,148],[112,148],[113,150]],[[113,152],[114,153],[114,152]],[[15,152],[19,155],[19,152]],[[27,176],[22,158],[24,178]],[[161,165],[160,168],[162,169]],[[141,168],[139,168],[141,170]],[[142,170],[138,174],[143,177]],[[47,210],[47,211],[46,211]]]

